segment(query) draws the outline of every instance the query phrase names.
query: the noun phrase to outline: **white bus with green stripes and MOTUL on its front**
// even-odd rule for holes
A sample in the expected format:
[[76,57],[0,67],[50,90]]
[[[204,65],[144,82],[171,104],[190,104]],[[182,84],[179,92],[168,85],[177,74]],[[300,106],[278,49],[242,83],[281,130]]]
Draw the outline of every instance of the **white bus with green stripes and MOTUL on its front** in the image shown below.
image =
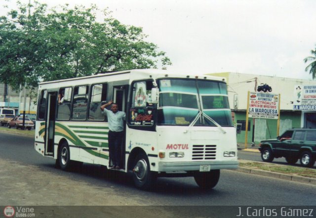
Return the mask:
[[201,188],[213,188],[221,169],[238,167],[225,79],[166,72],[130,70],[40,83],[35,150],[56,159],[62,170],[73,163],[108,167],[109,128],[100,106],[114,100],[126,113],[123,169],[117,171],[133,174],[141,189],[160,176],[194,176]]

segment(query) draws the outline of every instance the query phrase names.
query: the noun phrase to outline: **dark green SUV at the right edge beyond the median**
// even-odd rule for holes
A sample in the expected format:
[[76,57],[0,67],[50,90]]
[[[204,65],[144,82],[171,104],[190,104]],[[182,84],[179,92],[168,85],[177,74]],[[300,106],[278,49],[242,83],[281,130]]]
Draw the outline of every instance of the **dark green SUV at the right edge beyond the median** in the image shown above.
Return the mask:
[[316,129],[289,129],[276,139],[261,141],[259,146],[261,159],[265,162],[285,157],[289,164],[295,164],[300,159],[302,166],[313,167],[316,160]]

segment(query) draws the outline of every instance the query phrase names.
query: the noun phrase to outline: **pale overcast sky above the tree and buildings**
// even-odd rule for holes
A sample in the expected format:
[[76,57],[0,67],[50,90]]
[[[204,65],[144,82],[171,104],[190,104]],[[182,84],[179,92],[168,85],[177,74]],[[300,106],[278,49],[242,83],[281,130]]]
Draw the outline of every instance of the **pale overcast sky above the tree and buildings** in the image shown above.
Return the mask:
[[[312,79],[303,59],[316,47],[316,0],[38,1],[108,7],[121,23],[142,27],[148,41],[166,52],[173,63],[168,70]],[[0,15],[3,4],[15,5],[0,2]]]

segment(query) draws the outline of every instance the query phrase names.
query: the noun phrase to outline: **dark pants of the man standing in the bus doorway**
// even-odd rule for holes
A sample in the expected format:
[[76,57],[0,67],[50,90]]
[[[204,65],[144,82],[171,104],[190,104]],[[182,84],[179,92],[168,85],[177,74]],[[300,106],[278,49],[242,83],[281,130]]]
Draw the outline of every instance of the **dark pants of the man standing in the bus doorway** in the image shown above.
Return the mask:
[[111,164],[111,160],[113,164],[119,167],[121,166],[121,149],[120,146],[123,140],[123,131],[109,131],[108,133],[108,141],[109,141],[109,162]]

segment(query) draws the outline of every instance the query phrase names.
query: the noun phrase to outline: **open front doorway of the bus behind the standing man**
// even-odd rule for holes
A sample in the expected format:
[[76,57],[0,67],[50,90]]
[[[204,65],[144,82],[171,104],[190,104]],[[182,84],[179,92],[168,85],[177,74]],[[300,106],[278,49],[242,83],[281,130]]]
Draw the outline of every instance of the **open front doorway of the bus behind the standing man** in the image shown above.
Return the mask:
[[[113,91],[113,101],[115,103],[118,104],[118,110],[119,111],[123,111],[123,112],[127,112],[127,91],[128,91],[128,86],[118,86],[118,87],[114,87],[114,91]],[[125,127],[125,125],[124,125]],[[120,147],[121,150],[121,160],[122,160],[122,165],[121,166],[125,166],[125,128],[124,128],[124,138],[122,140],[122,144]]]

